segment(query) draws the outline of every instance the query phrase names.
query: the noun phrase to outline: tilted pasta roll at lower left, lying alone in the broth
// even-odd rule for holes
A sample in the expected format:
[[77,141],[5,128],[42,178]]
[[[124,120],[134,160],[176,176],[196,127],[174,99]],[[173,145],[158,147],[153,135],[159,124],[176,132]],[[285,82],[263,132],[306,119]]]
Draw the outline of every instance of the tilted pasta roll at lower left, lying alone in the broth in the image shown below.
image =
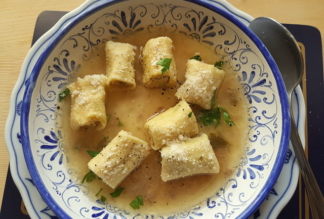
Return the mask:
[[146,142],[121,130],[88,167],[111,188],[116,188],[149,155]]

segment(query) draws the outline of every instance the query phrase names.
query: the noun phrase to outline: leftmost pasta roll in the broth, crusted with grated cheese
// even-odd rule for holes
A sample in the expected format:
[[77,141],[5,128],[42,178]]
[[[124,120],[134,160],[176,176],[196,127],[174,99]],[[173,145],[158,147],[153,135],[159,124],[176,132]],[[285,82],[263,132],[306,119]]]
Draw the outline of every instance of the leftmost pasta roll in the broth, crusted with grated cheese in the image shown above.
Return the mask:
[[73,129],[85,125],[96,125],[98,129],[106,126],[106,85],[107,77],[95,74],[78,77],[67,86],[71,94],[70,124]]

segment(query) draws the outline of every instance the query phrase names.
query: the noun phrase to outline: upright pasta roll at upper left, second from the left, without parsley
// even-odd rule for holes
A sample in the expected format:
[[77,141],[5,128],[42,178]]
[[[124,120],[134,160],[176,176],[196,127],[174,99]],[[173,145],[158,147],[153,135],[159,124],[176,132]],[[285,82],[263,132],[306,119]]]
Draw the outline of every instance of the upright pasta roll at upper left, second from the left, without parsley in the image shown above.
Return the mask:
[[112,84],[135,89],[135,52],[129,43],[106,42],[106,75]]

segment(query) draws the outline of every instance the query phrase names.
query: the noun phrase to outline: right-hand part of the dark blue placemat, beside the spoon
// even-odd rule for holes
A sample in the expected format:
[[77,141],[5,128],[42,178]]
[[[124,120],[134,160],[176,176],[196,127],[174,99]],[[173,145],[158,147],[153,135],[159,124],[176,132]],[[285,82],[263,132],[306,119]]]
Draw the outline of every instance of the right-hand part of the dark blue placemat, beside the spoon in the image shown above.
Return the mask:
[[[305,47],[306,81],[301,83],[301,86],[306,97],[306,147],[310,166],[321,192],[324,193],[324,139],[321,138],[324,136],[324,86],[320,32],[312,26],[296,24],[285,26]],[[300,180],[294,196],[277,218],[312,218],[305,195],[304,182]]]

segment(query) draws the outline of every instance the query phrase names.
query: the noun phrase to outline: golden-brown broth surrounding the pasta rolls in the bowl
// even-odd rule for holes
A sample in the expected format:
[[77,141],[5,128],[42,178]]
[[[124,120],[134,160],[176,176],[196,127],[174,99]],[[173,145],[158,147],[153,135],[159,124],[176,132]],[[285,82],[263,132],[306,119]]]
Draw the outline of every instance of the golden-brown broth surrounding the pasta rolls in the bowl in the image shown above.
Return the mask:
[[[135,90],[128,90],[127,87],[117,85],[110,86],[106,93],[106,113],[107,115],[111,114],[107,126],[100,131],[96,130],[95,127],[82,127],[79,130],[73,130],[69,125],[70,98],[66,98],[64,103],[61,104],[65,140],[64,151],[68,160],[67,166],[74,176],[74,182],[81,183],[83,177],[89,171],[87,163],[92,157],[87,153],[87,150],[101,151],[103,146],[108,144],[109,140],[114,138],[122,129],[148,142],[144,130],[146,120],[179,102],[174,96],[178,86],[168,89],[159,87],[148,89],[142,84],[143,69],[139,63],[141,48],[144,47],[148,39],[161,35],[168,35],[173,40],[174,55],[177,62],[177,78],[180,83],[185,80],[184,73],[187,60],[196,53],[199,53],[205,63],[214,64],[215,61],[219,61],[213,51],[180,34],[137,33],[134,36],[118,40],[137,47],[135,58],[137,84]],[[228,126],[223,119],[217,128],[198,123],[200,132],[212,137],[212,144],[215,141],[218,144],[213,148],[220,164],[219,173],[201,174],[163,182],[160,177],[160,152],[153,151],[119,185],[125,187],[119,197],[112,198],[109,193],[114,189],[111,189],[98,178],[91,183],[84,182],[89,189],[90,197],[95,200],[103,195],[107,198],[106,202],[109,204],[128,211],[166,214],[192,207],[215,194],[237,167],[240,157],[245,151],[248,136],[246,99],[235,73],[230,71],[226,64],[224,64],[223,69],[226,71],[226,76],[218,89],[216,100],[217,104],[227,109],[235,125]],[[88,74],[105,74],[104,48],[96,50],[90,60],[82,63],[82,67],[77,72],[79,77]],[[200,109],[192,104],[190,106],[193,113]],[[118,125],[118,118],[124,126]],[[219,136],[221,139],[215,138],[215,136]],[[103,188],[103,190],[95,197],[100,188]],[[144,206],[134,210],[129,204],[139,195],[143,196]]]

